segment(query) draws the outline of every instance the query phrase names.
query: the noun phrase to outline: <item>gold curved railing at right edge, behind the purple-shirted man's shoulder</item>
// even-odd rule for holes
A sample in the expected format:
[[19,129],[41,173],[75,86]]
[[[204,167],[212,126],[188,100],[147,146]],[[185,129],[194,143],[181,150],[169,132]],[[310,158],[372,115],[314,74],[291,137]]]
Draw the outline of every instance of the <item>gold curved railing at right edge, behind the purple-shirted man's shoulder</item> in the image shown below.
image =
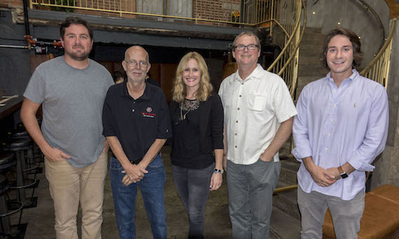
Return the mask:
[[391,66],[392,39],[393,34],[395,34],[395,26],[396,18],[392,20],[391,31],[389,32],[389,36],[386,38],[381,50],[379,50],[378,54],[374,57],[374,59],[372,59],[370,64],[368,64],[368,66],[366,66],[366,68],[360,72],[360,75],[384,85],[385,89],[388,87],[389,68]]

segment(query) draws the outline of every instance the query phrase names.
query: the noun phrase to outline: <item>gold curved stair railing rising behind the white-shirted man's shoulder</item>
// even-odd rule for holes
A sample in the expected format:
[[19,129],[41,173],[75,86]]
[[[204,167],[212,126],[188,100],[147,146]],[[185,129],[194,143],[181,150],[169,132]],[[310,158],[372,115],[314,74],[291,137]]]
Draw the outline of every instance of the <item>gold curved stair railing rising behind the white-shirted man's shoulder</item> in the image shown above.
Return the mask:
[[[294,99],[298,78],[299,45],[306,27],[306,6],[302,0],[286,1],[284,5],[292,11],[292,14],[283,12],[279,19],[272,19],[285,34],[284,47],[272,65],[267,68],[267,71],[276,73],[283,78],[290,90],[291,97]],[[290,22],[286,20],[288,17],[290,17]]]

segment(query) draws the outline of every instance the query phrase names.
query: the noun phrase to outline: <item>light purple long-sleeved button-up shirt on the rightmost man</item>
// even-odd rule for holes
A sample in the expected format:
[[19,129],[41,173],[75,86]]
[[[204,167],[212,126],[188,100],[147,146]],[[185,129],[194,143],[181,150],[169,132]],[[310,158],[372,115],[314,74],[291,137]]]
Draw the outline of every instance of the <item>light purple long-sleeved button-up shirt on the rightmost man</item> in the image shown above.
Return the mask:
[[330,73],[309,83],[297,101],[294,118],[293,155],[298,161],[312,157],[321,168],[349,162],[356,171],[329,187],[320,187],[301,164],[297,172],[303,191],[351,200],[365,189],[365,171],[384,150],[388,135],[388,95],[386,89],[352,70],[339,88]]

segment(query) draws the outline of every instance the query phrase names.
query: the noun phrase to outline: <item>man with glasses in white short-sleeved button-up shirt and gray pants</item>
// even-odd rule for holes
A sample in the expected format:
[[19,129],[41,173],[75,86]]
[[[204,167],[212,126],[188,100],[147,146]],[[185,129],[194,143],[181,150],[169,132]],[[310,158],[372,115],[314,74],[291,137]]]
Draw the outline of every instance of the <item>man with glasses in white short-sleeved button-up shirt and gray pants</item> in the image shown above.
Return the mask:
[[259,38],[244,31],[232,48],[238,70],[219,90],[225,112],[224,166],[232,237],[269,238],[279,149],[290,136],[297,113],[286,83],[257,64]]

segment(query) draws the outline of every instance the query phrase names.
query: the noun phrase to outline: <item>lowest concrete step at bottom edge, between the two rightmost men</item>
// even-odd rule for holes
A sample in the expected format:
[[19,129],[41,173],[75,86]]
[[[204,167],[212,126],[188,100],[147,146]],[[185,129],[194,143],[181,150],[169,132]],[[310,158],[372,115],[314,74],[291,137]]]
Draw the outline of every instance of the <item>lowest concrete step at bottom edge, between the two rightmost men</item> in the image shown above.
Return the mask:
[[272,218],[270,220],[270,238],[299,239],[300,221],[290,217],[277,208],[273,208]]

